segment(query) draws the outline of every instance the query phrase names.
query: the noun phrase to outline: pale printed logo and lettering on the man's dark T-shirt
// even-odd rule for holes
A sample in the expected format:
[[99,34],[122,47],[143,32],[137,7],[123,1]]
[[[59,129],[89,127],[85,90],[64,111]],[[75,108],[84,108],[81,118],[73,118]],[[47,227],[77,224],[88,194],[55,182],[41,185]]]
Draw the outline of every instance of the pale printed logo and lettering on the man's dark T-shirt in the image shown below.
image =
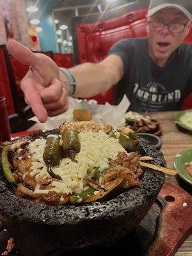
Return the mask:
[[173,92],[168,92],[162,84],[154,82],[148,83],[145,87],[140,87],[138,83],[134,84],[133,95],[141,102],[159,105],[180,100],[180,90],[175,89]]

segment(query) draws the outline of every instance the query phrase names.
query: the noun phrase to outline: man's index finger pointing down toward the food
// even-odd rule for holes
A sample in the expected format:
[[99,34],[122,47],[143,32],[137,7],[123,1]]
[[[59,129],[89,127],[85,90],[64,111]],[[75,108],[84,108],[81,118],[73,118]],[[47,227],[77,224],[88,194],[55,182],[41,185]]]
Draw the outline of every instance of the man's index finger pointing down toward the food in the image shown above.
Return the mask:
[[[26,86],[25,84],[28,84]],[[41,123],[47,121],[47,110],[44,108],[44,104],[42,103],[42,99],[40,97],[40,93],[36,90],[35,86],[33,86],[33,81],[29,79],[28,76],[22,79],[20,84],[22,91],[24,92],[26,100],[29,102],[33,113],[37,116],[38,120]]]

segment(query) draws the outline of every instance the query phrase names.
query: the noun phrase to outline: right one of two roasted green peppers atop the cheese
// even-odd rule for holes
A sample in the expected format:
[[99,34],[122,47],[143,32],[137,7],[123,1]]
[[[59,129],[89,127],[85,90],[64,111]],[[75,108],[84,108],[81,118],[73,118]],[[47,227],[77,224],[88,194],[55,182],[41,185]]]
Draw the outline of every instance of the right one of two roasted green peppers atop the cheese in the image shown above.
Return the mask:
[[62,132],[62,140],[64,155],[74,161],[76,154],[79,153],[81,149],[78,133],[71,129],[65,129]]

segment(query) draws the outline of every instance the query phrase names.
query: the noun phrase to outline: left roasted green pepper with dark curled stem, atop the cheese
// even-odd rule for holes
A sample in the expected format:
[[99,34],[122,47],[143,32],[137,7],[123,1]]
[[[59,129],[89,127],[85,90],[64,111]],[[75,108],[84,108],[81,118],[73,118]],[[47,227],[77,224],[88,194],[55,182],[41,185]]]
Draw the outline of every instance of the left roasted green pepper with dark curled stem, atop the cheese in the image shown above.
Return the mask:
[[43,159],[47,166],[47,172],[52,178],[61,180],[59,175],[52,172],[51,167],[60,163],[62,158],[62,147],[60,146],[60,138],[58,136],[50,136],[47,138],[44,148]]

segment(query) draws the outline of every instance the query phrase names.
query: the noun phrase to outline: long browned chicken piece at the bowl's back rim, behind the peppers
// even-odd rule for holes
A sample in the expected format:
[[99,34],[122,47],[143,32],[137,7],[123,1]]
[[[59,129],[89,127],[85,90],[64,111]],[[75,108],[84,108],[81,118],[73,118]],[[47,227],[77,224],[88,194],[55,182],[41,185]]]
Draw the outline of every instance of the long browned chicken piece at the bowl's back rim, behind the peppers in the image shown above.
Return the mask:
[[93,131],[98,132],[100,130],[109,133],[113,127],[109,124],[100,125],[92,121],[80,121],[80,122],[66,122],[60,125],[60,133],[65,129],[74,129],[76,131]]

